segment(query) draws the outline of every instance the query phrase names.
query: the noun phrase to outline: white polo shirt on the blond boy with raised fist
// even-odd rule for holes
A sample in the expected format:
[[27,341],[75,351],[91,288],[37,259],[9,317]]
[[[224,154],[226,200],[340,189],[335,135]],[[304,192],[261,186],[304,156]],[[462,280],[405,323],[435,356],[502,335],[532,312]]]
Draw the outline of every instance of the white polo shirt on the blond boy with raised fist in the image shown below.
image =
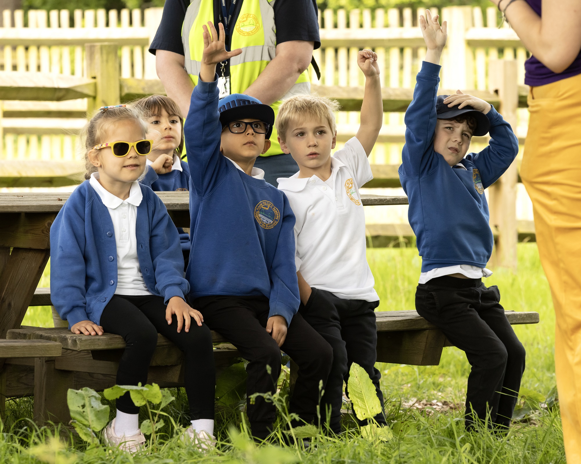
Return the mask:
[[359,140],[331,157],[331,177],[279,178],[296,216],[296,269],[311,287],[338,298],[377,301],[365,252],[365,213],[359,187],[373,179]]

